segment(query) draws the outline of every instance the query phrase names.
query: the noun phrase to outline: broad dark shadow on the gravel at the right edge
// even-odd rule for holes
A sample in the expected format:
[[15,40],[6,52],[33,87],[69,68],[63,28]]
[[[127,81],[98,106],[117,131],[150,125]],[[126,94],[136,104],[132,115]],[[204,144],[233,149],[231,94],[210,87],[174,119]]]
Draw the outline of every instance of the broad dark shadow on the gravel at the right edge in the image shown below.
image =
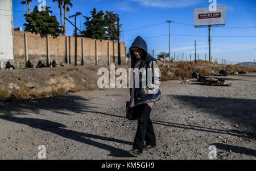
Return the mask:
[[192,108],[202,109],[205,113],[241,125],[243,128],[256,131],[256,100],[232,99],[226,97],[201,97],[186,95],[169,95]]

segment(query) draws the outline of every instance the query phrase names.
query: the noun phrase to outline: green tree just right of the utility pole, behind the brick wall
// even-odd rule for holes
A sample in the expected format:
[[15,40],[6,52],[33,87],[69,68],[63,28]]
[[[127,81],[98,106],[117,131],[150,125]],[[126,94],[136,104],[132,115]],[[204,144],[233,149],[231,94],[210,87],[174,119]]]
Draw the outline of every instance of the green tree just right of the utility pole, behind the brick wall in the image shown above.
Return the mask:
[[104,20],[104,12],[102,10],[96,11],[96,8],[93,8],[93,11],[90,12],[92,16],[86,18],[85,27],[86,30],[83,31],[82,35],[85,37],[90,37],[93,39],[106,39],[106,21]]

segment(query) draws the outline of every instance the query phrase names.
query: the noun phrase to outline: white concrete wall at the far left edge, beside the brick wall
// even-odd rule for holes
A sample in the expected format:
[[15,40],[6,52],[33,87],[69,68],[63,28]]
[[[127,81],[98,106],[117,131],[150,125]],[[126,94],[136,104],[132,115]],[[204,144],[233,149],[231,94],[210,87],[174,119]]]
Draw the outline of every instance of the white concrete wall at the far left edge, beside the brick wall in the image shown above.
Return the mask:
[[13,56],[13,3],[0,1],[0,67],[5,67]]

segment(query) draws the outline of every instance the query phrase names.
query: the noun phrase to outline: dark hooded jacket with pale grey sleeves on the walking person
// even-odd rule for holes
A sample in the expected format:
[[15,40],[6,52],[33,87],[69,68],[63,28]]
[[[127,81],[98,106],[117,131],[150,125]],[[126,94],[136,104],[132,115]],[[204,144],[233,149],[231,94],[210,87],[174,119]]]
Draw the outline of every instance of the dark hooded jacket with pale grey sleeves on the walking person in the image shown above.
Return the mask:
[[[137,62],[137,58],[134,55],[133,50],[131,48],[141,48],[144,51],[144,56],[142,57],[142,62],[139,65],[139,69],[146,69],[146,79],[148,78],[148,68],[151,68],[149,70],[152,72],[152,80],[151,83],[148,84],[146,82],[146,87],[142,87],[142,74],[139,73],[139,88],[135,88],[134,91],[134,102],[135,105],[139,104],[145,104],[148,102],[154,102],[159,100],[162,97],[162,94],[160,92],[159,86],[160,86],[160,70],[158,67],[158,63],[154,57],[152,57],[150,54],[147,53],[147,44],[146,41],[142,39],[142,37],[138,36],[134,40],[133,44],[131,44],[131,47],[129,48],[130,54],[131,54],[131,68],[134,69],[135,63]],[[156,71],[158,71],[156,73]],[[131,74],[133,75],[133,74]],[[133,88],[130,88],[130,95]]]

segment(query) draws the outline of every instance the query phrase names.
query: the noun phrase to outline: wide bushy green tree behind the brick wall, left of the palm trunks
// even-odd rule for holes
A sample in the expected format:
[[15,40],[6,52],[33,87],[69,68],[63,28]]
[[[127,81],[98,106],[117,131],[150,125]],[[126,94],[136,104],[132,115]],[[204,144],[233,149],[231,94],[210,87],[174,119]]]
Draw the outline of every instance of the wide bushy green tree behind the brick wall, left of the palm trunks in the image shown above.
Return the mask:
[[25,14],[27,23],[24,24],[24,31],[40,33],[42,37],[46,35],[59,36],[62,33],[60,23],[57,22],[56,16],[49,15],[52,13],[49,8],[46,7],[46,11],[39,11],[38,6],[35,6],[33,12]]

